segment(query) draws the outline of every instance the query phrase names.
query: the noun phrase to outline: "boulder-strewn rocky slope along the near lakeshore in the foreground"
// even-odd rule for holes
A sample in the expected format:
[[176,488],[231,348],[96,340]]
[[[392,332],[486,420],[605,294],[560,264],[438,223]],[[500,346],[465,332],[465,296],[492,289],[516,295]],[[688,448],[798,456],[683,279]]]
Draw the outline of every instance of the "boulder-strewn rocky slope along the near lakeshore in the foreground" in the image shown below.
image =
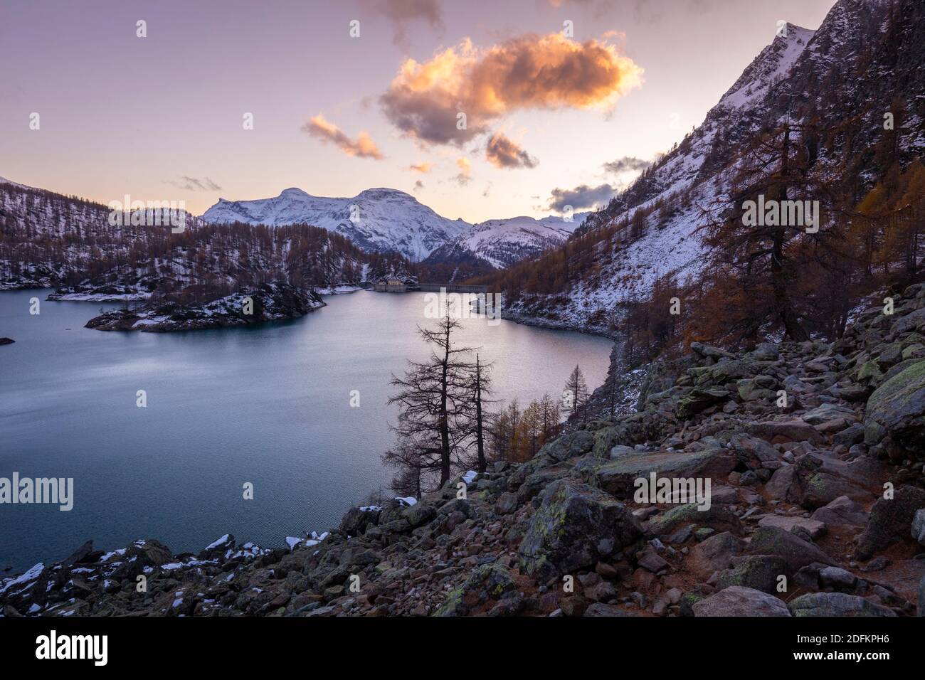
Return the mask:
[[[917,285],[835,343],[694,343],[653,367],[638,412],[582,424],[527,463],[353,508],[288,549],[88,543],[6,579],[0,611],[923,615],[923,332]],[[709,494],[640,500],[653,473]]]

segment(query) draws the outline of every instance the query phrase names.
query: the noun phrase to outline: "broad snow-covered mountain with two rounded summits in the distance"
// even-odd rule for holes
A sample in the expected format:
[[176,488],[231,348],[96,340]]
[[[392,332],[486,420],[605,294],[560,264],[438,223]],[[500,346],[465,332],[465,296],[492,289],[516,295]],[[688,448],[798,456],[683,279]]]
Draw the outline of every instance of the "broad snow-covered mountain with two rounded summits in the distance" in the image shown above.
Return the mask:
[[367,189],[352,198],[312,196],[287,189],[275,198],[227,201],[205,211],[211,223],[244,222],[281,227],[310,224],[336,231],[371,253],[398,251],[423,260],[471,225],[439,216],[413,196],[395,189]]

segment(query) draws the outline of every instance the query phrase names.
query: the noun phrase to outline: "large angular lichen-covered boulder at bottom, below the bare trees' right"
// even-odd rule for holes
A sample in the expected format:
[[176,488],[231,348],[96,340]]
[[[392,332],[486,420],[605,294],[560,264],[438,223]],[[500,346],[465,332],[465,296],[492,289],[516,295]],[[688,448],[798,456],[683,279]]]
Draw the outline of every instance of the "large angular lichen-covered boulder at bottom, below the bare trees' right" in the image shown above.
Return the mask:
[[518,549],[524,573],[538,581],[591,566],[642,535],[633,513],[598,488],[561,479],[539,500]]

